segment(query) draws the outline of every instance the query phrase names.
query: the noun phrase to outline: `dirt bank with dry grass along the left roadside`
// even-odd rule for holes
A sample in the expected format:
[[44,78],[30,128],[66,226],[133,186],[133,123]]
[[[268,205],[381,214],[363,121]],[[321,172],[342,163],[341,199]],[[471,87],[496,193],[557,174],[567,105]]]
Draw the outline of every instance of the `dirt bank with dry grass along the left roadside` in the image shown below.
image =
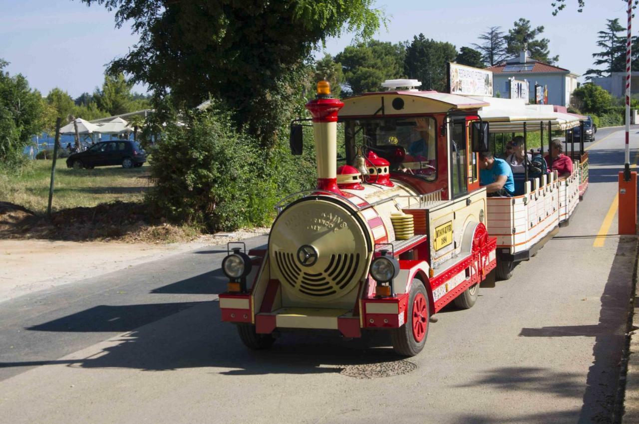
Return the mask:
[[51,219],[22,206],[0,202],[0,239],[50,239],[66,241],[123,241],[125,243],[224,242],[265,234],[268,229],[202,234],[164,218],[149,218],[140,202],[110,202],[91,208],[54,212]]

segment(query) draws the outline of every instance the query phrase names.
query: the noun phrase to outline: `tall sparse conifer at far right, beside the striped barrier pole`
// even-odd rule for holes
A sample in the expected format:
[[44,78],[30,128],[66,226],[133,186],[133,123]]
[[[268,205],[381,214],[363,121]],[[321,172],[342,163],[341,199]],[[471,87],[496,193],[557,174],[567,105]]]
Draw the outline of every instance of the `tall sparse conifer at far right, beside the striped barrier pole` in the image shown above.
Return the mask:
[[[605,69],[589,69],[584,76],[587,79],[592,77],[608,77],[612,72],[623,72],[626,64],[626,37],[619,35],[626,31],[626,28],[620,26],[619,19],[606,19],[605,31],[599,31],[597,38],[597,46],[601,47],[601,52],[593,53],[592,57],[598,57],[594,61],[595,66],[605,65]],[[607,75],[604,75],[606,74]]]

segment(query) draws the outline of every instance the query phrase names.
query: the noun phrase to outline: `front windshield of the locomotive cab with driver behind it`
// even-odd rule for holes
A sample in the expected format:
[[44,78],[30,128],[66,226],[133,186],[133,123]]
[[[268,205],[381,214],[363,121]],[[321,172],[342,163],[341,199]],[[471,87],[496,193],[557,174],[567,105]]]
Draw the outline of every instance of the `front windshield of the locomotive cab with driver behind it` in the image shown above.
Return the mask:
[[344,122],[346,149],[353,158],[359,148],[374,151],[394,171],[437,178],[436,122],[432,117],[357,119]]

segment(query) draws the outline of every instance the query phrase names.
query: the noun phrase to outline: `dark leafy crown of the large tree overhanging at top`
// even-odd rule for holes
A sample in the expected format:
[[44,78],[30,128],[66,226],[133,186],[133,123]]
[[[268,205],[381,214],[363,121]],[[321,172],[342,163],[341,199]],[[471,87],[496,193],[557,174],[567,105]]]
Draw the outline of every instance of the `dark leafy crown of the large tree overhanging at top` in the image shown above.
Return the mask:
[[217,98],[272,148],[300,111],[312,50],[351,32],[367,40],[385,22],[374,0],[82,0],[132,21],[139,42],[109,65],[158,98],[194,107]]

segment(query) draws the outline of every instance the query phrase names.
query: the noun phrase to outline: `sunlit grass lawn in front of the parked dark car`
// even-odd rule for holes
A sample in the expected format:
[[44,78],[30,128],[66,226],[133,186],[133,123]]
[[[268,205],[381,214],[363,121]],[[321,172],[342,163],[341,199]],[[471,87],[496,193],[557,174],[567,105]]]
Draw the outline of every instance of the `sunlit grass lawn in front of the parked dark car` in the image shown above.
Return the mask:
[[[49,202],[51,160],[34,160],[19,175],[0,172],[0,201],[45,213]],[[65,159],[56,162],[52,209],[96,206],[111,201],[135,202],[150,186],[149,169],[99,167],[68,169]]]

